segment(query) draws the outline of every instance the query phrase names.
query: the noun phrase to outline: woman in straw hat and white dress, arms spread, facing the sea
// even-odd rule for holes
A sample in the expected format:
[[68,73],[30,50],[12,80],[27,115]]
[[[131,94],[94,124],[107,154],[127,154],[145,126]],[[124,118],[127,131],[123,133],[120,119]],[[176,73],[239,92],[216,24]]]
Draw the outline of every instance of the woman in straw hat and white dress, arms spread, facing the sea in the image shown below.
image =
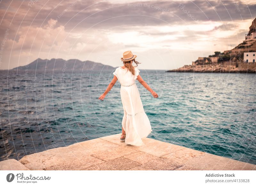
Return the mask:
[[103,100],[111,88],[115,85],[116,80],[121,84],[120,94],[124,108],[124,117],[122,120],[122,135],[121,142],[125,141],[125,145],[145,145],[141,138],[145,138],[152,132],[151,125],[148,116],[144,112],[142,102],[140,100],[140,93],[135,84],[137,79],[141,85],[143,85],[153,96],[158,98],[148,84],[140,77],[139,69],[132,65],[137,56],[133,55],[131,51],[123,53],[121,60],[124,66],[116,68],[113,73],[114,78],[108,85],[106,91],[99,97],[99,100]]

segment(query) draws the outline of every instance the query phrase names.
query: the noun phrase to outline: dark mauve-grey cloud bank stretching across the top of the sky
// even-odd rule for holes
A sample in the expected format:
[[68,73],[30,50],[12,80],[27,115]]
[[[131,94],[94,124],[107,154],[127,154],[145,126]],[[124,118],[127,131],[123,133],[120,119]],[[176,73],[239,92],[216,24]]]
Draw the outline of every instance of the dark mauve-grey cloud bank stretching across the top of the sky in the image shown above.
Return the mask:
[[[67,30],[95,28],[111,28],[120,25],[166,25],[190,23],[193,20],[191,15],[198,21],[234,21],[253,19],[256,15],[256,4],[246,5],[242,1],[236,1],[239,11],[236,9],[234,1],[182,1],[181,8],[177,1],[142,1],[130,3],[111,3],[105,1],[37,1],[28,6],[28,2],[21,4],[20,1],[13,1],[4,16],[5,20],[12,21],[12,26],[22,25],[41,27],[49,19],[56,19],[61,13],[74,4],[58,20],[58,24],[65,25]],[[59,4],[61,2],[61,4]],[[2,3],[1,3],[2,4]],[[6,2],[2,6],[1,13],[7,9]],[[20,6],[20,8],[19,8]],[[157,8],[158,7],[158,8]],[[19,8],[19,10],[18,10]],[[164,8],[167,11],[160,11]],[[10,8],[9,8],[10,9]],[[250,10],[250,11],[249,11]],[[17,11],[17,12],[16,12]],[[28,11],[28,12],[27,12]],[[26,14],[27,13],[27,14]],[[251,15],[254,14],[254,15]],[[25,16],[26,14],[26,16]],[[13,16],[15,17],[13,18]],[[24,19],[23,19],[24,18]],[[13,20],[12,20],[13,19]]]

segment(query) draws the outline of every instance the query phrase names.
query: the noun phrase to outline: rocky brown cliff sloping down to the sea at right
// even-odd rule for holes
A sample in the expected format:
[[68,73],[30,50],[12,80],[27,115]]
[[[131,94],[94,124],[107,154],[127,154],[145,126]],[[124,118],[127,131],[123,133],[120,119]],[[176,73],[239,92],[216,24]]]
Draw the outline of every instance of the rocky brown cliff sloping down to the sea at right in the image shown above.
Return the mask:
[[244,52],[256,51],[255,35],[256,18],[252,21],[249,32],[245,34],[245,40],[235,48],[226,50],[223,53],[216,51],[214,55],[209,55],[209,57],[198,57],[195,62],[192,62],[192,65],[184,65],[183,67],[167,72],[255,73],[255,63],[244,63]]

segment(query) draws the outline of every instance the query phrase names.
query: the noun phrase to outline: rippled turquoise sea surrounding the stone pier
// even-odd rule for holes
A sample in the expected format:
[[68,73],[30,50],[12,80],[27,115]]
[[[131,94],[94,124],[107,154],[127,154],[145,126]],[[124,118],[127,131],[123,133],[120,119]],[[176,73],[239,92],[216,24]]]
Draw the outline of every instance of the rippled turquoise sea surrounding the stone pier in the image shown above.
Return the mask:
[[[25,71],[1,73],[0,159],[121,133],[119,82],[98,100],[112,72],[29,71],[28,80]],[[141,69],[140,75],[159,95],[153,98],[136,81],[153,130],[149,138],[256,164],[255,74]]]

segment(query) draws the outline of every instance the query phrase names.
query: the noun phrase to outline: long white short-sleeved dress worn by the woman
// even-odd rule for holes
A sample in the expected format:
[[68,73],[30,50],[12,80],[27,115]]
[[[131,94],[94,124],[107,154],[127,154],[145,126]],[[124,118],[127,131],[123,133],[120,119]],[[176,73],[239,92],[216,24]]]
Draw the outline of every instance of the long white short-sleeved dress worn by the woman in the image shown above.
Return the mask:
[[120,95],[124,108],[122,126],[126,133],[125,143],[130,145],[145,145],[141,138],[145,138],[152,132],[151,125],[146,115],[140,93],[135,84],[140,70],[135,68],[135,75],[127,68],[118,67],[113,74],[121,84]]

